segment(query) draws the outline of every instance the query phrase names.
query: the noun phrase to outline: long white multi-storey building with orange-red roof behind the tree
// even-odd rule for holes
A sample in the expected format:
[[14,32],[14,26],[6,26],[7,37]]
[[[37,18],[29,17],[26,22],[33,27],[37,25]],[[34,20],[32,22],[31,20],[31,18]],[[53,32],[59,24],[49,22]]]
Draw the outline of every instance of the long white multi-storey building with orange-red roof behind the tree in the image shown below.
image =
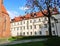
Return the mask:
[[[54,14],[52,16],[58,19],[58,23],[55,23],[54,19],[51,19],[52,35],[58,34],[60,36],[60,14]],[[12,36],[49,35],[48,27],[48,18],[40,12],[34,13],[33,17],[31,17],[31,14],[27,14],[11,20]]]

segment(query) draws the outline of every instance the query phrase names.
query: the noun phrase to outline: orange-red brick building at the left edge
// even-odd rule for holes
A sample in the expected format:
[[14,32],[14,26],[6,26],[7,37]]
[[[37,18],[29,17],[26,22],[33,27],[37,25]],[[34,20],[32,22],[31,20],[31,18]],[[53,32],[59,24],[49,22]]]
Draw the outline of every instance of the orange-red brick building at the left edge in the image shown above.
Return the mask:
[[3,5],[3,0],[0,0],[0,38],[10,36],[10,17]]

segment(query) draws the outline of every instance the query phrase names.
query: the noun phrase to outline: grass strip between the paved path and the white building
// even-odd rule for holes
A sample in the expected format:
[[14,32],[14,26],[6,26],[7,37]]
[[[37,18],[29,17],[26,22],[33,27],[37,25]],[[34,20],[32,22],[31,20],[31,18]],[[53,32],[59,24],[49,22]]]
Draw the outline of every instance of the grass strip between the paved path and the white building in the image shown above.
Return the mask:
[[16,40],[28,40],[28,39],[37,39],[37,38],[47,38],[42,36],[17,36],[17,37],[10,37],[9,41],[16,41]]

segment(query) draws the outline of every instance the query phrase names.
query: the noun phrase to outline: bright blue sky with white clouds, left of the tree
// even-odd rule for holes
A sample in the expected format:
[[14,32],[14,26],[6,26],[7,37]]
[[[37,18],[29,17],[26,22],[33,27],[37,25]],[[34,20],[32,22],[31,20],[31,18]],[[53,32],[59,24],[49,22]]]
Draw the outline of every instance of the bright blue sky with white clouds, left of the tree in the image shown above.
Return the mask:
[[4,0],[3,4],[10,15],[10,18],[13,19],[14,17],[25,15],[25,10],[28,9],[24,7],[26,0]]

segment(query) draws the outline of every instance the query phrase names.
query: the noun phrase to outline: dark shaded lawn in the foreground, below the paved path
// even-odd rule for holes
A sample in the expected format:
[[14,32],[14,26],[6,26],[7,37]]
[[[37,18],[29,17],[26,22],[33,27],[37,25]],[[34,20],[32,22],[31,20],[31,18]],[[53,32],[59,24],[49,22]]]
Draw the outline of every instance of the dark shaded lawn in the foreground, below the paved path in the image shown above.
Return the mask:
[[48,38],[46,41],[22,43],[7,46],[60,46],[60,37]]

